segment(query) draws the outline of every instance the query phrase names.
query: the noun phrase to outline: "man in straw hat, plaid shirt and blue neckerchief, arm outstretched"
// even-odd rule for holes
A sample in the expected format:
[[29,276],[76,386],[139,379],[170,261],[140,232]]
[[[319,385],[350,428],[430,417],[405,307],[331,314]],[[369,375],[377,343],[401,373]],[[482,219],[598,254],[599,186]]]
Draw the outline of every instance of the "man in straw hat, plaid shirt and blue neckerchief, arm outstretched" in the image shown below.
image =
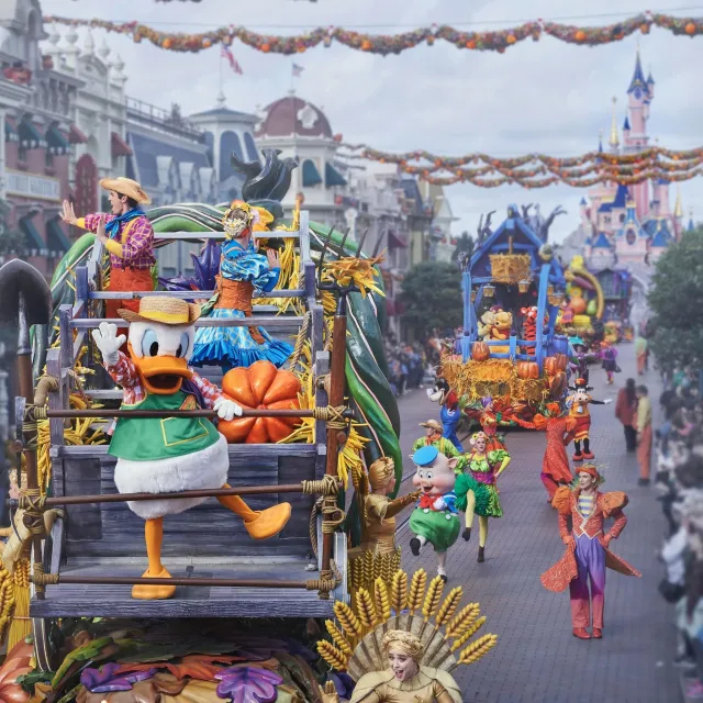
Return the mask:
[[[72,203],[65,200],[62,220],[93,232],[110,252],[110,291],[154,290],[154,230],[140,207],[152,199],[131,178],[103,178],[100,186],[108,191],[112,214],[76,217]],[[138,300],[107,300],[105,317],[116,317],[121,309],[137,312],[138,308]]]

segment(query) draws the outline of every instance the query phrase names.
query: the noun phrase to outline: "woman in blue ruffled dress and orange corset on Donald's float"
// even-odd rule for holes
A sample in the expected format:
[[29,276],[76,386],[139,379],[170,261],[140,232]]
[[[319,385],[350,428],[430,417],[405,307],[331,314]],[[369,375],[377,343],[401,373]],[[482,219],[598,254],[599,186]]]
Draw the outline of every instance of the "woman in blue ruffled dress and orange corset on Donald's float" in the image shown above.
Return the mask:
[[[203,310],[216,320],[244,320],[252,316],[254,291],[274,290],[280,277],[278,255],[257,254],[252,241],[253,225],[259,211],[235,201],[223,217],[225,241],[222,245],[217,289]],[[196,334],[193,366],[220,364],[223,372],[235,367],[249,367],[267,359],[280,368],[293,347],[272,339],[260,327],[200,327]]]

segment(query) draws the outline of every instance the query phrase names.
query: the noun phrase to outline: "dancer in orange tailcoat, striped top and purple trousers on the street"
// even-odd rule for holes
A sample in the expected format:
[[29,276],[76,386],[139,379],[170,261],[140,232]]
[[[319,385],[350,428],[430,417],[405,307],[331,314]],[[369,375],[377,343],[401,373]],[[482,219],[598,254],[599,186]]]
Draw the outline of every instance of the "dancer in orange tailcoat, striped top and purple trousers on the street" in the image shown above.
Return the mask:
[[[602,482],[596,467],[584,464],[579,467],[576,487],[565,486],[557,491],[551,504],[559,512],[559,534],[567,548],[561,559],[540,578],[542,584],[555,593],[569,587],[571,625],[573,636],[579,639],[600,639],[603,636],[605,569],[613,569],[625,576],[641,576],[637,569],[610,550],[611,540],[617,539],[627,524],[627,517],[623,513],[627,495],[620,491],[601,493],[598,487]],[[568,528],[569,516],[572,522],[571,533]],[[615,521],[609,532],[604,531],[606,517]],[[593,634],[587,629],[591,622]]]

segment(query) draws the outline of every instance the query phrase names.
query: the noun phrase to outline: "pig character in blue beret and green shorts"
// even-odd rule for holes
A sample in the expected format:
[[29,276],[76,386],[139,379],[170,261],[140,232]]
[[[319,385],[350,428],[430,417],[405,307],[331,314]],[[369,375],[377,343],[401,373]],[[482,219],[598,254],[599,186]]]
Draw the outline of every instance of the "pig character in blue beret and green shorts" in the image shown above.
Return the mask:
[[446,581],[447,550],[461,528],[454,492],[458,459],[449,459],[436,447],[427,446],[413,454],[413,461],[417,467],[413,486],[422,492],[410,516],[410,529],[414,535],[410,548],[417,557],[429,543],[437,553],[437,573]]

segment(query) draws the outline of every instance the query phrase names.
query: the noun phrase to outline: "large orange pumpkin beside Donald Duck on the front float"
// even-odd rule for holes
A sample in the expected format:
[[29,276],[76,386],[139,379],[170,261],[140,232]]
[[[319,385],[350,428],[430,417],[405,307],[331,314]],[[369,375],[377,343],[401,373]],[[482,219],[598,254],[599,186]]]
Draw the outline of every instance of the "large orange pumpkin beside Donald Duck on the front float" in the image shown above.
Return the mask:
[[[226,398],[245,410],[290,410],[299,408],[300,380],[291,371],[279,371],[270,361],[255,361],[249,368],[227,371],[222,379]],[[300,423],[299,417],[235,417],[217,424],[230,444],[279,442]]]

